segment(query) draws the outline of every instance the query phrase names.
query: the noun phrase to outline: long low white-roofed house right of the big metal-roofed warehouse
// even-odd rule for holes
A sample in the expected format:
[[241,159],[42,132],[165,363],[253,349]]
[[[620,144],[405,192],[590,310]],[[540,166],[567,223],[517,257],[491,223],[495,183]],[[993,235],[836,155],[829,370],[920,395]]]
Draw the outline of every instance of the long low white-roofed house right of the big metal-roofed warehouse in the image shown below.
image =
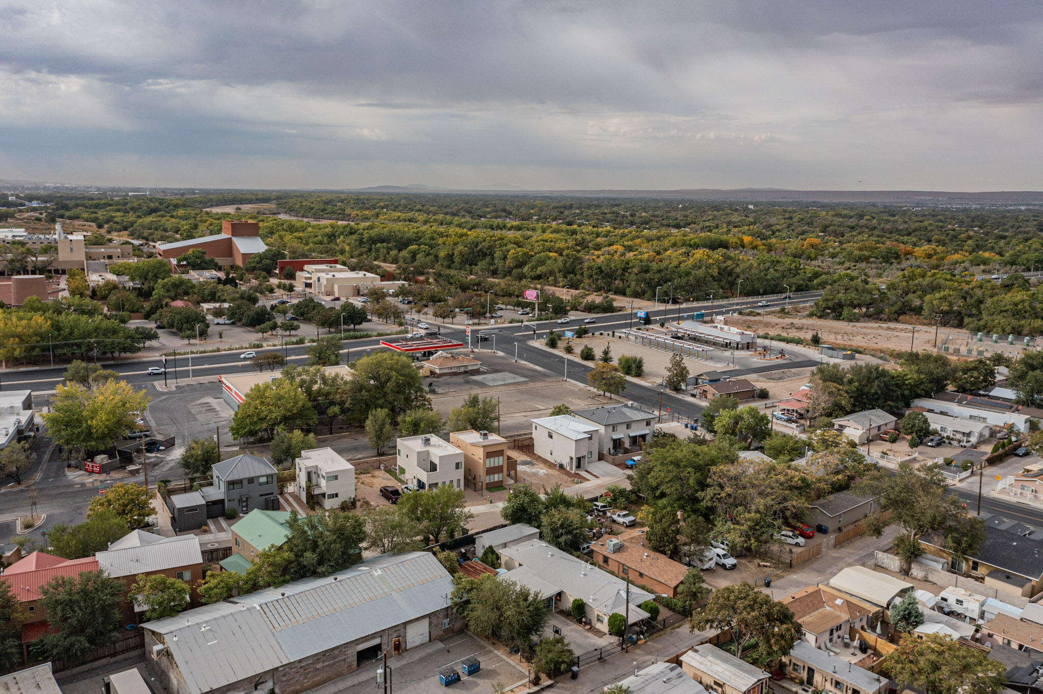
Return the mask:
[[[583,600],[586,618],[600,631],[608,631],[608,618],[627,609],[627,584],[592,564],[539,540],[529,540],[500,550],[501,578],[528,586],[544,598],[554,598],[557,610],[568,610],[573,599]],[[638,605],[654,596],[631,583],[630,620],[636,624],[648,613]]]

